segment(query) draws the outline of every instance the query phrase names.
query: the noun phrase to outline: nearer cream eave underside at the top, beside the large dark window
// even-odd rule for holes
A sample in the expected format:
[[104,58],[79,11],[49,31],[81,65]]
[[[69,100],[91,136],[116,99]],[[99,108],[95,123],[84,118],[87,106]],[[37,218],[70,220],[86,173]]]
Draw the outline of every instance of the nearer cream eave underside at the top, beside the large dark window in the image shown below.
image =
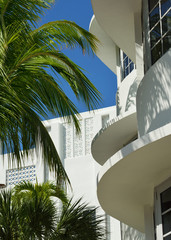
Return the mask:
[[134,14],[141,17],[142,0],[91,0],[96,20],[110,36],[135,62]]

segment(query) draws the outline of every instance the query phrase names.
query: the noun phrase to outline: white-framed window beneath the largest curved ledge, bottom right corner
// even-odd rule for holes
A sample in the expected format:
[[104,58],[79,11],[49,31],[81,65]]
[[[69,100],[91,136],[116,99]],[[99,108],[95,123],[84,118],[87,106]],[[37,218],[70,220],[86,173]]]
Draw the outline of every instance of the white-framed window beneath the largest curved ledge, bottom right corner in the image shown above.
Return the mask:
[[171,179],[156,189],[155,223],[157,240],[171,240]]

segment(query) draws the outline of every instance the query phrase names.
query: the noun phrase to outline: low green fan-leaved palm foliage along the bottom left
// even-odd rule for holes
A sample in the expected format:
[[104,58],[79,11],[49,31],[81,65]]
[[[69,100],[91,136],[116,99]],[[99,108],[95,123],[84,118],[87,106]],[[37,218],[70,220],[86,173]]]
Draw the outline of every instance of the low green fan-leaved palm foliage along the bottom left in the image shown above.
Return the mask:
[[[59,200],[60,199],[60,200]],[[1,240],[102,240],[104,228],[96,209],[67,200],[52,183],[20,183],[0,193]]]

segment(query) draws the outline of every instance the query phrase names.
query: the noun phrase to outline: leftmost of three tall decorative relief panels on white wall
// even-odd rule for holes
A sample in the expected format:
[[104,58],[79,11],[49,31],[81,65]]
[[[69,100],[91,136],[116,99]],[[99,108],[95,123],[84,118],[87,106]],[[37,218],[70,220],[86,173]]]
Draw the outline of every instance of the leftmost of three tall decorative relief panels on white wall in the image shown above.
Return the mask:
[[64,158],[72,157],[72,128],[69,123],[64,123]]

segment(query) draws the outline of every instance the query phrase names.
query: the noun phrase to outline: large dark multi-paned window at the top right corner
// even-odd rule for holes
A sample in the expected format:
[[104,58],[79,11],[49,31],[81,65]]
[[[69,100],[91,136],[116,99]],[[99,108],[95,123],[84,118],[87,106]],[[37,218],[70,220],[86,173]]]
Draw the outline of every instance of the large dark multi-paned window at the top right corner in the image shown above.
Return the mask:
[[171,0],[149,0],[151,63],[171,47]]

